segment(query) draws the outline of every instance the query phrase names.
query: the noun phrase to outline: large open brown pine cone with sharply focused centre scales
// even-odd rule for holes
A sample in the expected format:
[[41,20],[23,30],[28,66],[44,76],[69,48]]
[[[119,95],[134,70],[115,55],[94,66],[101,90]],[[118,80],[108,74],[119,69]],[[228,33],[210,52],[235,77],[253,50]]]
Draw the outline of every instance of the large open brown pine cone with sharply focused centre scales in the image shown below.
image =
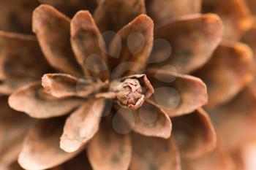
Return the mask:
[[214,112],[245,93],[254,78],[252,52],[240,42],[221,42],[222,21],[200,14],[201,1],[105,0],[95,9],[73,0],[68,11],[62,1],[42,2],[69,16],[82,7],[94,15],[83,10],[70,20],[41,5],[33,13],[37,39],[0,34],[0,91],[12,93],[13,109],[41,119],[21,149],[24,169],[191,170],[230,163],[220,144],[214,150],[215,131],[201,107],[208,102]]

